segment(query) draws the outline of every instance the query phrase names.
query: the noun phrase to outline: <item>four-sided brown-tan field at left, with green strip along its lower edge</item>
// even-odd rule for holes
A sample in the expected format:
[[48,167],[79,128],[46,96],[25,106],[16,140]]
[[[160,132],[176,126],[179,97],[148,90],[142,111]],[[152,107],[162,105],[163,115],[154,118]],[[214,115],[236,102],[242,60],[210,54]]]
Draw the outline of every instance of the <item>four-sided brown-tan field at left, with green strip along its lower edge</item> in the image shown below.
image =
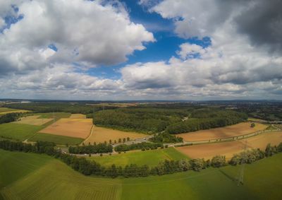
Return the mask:
[[90,135],[91,127],[92,119],[62,118],[42,129],[40,133],[86,139]]

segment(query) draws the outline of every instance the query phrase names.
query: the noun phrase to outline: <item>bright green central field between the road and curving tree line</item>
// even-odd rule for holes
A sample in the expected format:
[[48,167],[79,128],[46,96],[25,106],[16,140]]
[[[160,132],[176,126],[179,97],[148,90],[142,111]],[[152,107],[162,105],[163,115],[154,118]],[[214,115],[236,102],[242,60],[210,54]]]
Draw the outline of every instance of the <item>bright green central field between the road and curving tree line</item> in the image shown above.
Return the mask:
[[87,157],[95,160],[101,165],[112,165],[115,163],[118,166],[125,166],[130,164],[156,166],[159,162],[164,160],[181,160],[188,157],[175,148],[164,148],[149,151],[133,151],[114,155],[103,155]]

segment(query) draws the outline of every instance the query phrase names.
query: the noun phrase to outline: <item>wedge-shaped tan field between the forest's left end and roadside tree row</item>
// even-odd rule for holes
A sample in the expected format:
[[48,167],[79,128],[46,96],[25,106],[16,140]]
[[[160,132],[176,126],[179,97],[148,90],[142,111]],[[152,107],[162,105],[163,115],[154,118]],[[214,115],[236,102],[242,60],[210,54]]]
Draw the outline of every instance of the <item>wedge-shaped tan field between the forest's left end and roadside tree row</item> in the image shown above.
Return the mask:
[[128,131],[118,131],[114,129],[107,129],[104,127],[96,127],[94,126],[92,129],[91,136],[85,140],[85,143],[103,143],[104,141],[109,143],[109,140],[111,140],[113,143],[116,140],[118,142],[118,139],[123,139],[129,137],[130,140],[134,139],[140,139],[144,138],[148,135],[146,134],[137,134],[135,132],[128,132]]

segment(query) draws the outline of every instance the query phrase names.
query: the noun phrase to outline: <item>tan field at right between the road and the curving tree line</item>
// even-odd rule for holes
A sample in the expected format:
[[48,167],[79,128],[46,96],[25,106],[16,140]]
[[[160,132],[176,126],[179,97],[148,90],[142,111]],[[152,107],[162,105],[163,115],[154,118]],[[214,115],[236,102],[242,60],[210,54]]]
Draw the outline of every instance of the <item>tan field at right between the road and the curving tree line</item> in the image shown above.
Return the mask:
[[243,151],[245,141],[247,141],[247,148],[260,148],[264,150],[268,143],[277,145],[282,142],[282,131],[253,136],[246,140],[182,146],[177,149],[185,155],[188,155],[190,158],[210,159],[215,155],[226,155],[226,158],[230,159],[235,153]]

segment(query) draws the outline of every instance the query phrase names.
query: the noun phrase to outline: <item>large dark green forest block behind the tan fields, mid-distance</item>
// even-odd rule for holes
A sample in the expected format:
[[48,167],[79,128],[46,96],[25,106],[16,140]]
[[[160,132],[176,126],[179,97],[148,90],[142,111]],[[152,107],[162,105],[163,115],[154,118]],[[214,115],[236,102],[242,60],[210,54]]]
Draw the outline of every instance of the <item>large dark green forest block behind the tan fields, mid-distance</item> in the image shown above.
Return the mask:
[[247,114],[212,107],[183,108],[127,107],[101,110],[94,114],[93,123],[114,129],[145,133],[180,134],[201,129],[225,127],[247,120]]

